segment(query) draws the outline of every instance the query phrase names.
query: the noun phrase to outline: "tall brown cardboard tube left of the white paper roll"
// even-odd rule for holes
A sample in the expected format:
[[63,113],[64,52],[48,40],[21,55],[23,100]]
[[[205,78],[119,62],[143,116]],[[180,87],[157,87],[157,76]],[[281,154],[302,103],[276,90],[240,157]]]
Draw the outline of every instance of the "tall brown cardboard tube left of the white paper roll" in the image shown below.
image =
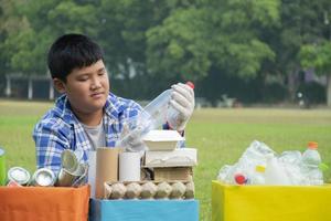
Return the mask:
[[120,148],[97,148],[96,198],[104,197],[104,182],[117,181],[118,152]]

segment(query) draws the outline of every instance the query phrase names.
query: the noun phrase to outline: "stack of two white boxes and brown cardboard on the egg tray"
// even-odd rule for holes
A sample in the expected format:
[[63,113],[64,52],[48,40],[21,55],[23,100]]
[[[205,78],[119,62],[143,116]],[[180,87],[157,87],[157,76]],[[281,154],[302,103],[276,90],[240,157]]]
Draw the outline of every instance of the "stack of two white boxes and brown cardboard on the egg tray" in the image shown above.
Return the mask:
[[148,147],[143,167],[152,169],[156,181],[192,181],[196,149],[180,147],[184,138],[178,131],[151,130],[143,141]]

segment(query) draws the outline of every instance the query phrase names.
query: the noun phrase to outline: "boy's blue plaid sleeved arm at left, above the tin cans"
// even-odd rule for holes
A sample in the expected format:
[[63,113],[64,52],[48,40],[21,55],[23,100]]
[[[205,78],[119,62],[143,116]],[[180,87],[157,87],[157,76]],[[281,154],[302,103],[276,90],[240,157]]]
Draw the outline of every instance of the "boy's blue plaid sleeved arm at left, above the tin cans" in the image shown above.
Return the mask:
[[33,131],[36,150],[38,168],[49,168],[55,173],[61,168],[61,154],[70,147],[67,141],[68,133],[60,128],[52,127],[50,124],[40,124]]

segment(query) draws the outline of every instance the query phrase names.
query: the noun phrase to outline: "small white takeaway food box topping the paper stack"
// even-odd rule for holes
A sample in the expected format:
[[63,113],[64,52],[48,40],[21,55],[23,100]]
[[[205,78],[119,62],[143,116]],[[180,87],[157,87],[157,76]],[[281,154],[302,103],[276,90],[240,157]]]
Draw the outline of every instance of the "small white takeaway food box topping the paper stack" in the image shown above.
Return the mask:
[[175,130],[150,130],[142,138],[149,150],[173,150],[179,141],[185,140]]

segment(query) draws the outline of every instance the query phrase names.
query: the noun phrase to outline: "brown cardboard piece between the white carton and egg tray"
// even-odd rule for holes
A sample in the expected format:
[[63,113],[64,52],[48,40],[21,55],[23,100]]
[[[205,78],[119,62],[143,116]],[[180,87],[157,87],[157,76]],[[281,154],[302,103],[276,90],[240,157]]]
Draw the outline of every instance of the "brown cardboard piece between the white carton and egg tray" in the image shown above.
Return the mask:
[[164,167],[154,168],[154,180],[193,180],[192,167]]

